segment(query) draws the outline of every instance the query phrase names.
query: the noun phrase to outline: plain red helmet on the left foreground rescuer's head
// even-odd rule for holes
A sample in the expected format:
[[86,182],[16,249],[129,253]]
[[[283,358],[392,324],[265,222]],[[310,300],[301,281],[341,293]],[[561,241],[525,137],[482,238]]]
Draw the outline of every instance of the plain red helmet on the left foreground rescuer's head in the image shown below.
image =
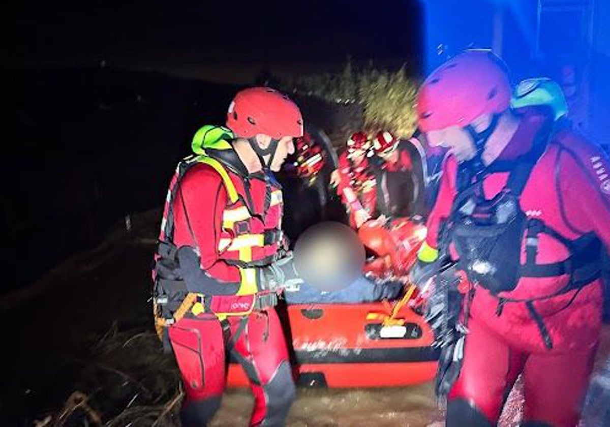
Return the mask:
[[288,96],[268,87],[239,91],[227,112],[227,127],[237,137],[258,134],[274,139],[303,136],[303,117]]

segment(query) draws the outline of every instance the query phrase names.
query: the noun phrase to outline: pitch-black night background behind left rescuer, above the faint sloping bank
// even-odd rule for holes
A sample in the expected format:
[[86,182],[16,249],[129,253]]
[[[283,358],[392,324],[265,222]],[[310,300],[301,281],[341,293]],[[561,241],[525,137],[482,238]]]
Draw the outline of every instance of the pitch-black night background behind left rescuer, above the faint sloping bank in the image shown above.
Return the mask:
[[11,2],[2,222],[12,268],[0,292],[159,206],[193,132],[220,123],[236,85],[262,71],[339,70],[350,55],[417,72],[418,13],[409,1]]

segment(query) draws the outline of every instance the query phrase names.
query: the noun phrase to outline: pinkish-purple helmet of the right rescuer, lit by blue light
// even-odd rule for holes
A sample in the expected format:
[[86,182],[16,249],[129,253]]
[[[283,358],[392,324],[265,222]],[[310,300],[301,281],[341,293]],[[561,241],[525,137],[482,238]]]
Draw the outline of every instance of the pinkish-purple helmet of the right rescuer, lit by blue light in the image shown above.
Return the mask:
[[508,109],[511,83],[506,64],[488,50],[470,50],[448,60],[423,82],[417,96],[422,132],[468,126],[477,117]]

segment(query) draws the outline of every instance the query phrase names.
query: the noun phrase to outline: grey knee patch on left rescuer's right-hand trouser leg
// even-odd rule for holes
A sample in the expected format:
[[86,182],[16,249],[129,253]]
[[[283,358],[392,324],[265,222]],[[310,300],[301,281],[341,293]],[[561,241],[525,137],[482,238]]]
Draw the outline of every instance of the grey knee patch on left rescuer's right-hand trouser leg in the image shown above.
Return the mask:
[[267,416],[262,425],[284,426],[290,405],[295,400],[296,388],[288,361],[282,362],[273,378],[265,386],[267,395]]

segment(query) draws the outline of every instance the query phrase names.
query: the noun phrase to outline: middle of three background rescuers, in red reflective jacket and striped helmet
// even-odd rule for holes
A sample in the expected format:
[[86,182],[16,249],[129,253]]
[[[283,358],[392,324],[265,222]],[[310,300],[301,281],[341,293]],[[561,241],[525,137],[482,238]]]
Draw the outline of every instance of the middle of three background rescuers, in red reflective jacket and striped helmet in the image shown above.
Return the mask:
[[360,228],[375,213],[375,174],[370,167],[371,143],[367,134],[355,132],[347,149],[339,156],[339,168],[332,173],[331,184],[350,215],[350,226]]

